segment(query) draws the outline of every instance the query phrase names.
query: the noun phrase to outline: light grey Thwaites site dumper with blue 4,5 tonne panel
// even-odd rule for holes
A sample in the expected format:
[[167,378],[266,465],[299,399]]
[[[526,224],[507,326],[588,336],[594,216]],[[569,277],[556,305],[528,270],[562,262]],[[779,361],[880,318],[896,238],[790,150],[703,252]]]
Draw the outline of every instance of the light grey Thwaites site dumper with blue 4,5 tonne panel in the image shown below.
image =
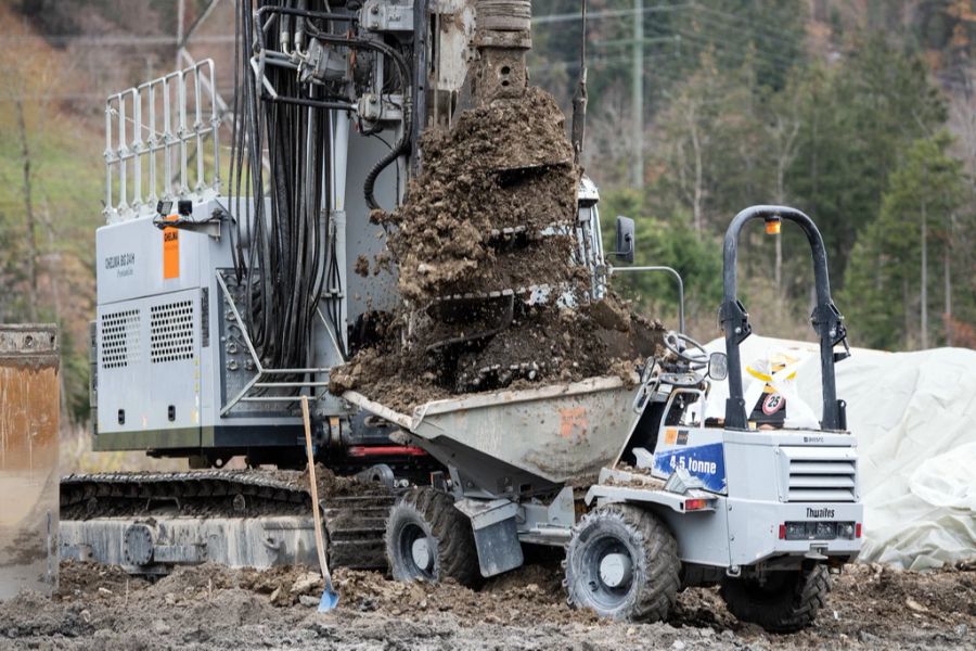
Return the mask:
[[[819,427],[757,429],[748,420],[739,346],[750,327],[735,264],[740,231],[756,219],[774,233],[783,220],[798,225],[812,250]],[[630,382],[480,394],[410,416],[346,393],[448,469],[394,507],[386,531],[394,576],[473,585],[522,565],[523,544],[565,546],[570,603],[604,616],[664,620],[680,589],[719,584],[740,620],[778,631],[812,623],[829,571],[860,549],[863,510],[856,441],[834,381],[846,331],[809,217],[779,206],[735,217],[720,319],[725,354],[671,333],[669,354],[648,359]],[[691,407],[725,376],[724,418],[703,418]]]

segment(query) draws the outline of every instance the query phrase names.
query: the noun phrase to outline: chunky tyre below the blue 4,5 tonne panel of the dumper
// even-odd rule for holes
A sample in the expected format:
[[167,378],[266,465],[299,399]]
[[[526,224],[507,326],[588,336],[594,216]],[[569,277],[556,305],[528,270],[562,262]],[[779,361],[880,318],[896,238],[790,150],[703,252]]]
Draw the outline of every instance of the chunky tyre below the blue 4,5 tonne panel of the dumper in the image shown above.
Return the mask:
[[[608,586],[601,574],[609,553],[630,559],[630,578],[618,586]],[[573,529],[565,563],[573,607],[618,621],[662,622],[675,605],[678,542],[659,518],[640,507],[612,503],[587,514]]]

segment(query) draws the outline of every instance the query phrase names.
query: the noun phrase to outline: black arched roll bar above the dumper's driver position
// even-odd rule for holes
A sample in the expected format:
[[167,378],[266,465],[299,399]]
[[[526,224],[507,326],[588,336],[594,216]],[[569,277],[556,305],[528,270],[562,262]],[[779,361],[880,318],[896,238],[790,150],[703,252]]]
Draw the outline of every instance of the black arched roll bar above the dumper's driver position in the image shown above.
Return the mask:
[[[817,307],[810,316],[813,331],[820,337],[820,370],[823,384],[823,430],[843,431],[847,429],[846,403],[837,399],[837,383],[834,363],[850,355],[847,345],[847,330],[844,317],[831,298],[831,281],[827,273],[826,250],[823,238],[813,220],[804,213],[786,206],[753,206],[741,212],[725,231],[723,248],[723,297],[719,312],[722,332],[725,334],[725,353],[729,356],[729,399],[725,401],[725,427],[747,430],[746,405],[742,388],[742,359],[739,345],[753,332],[749,315],[736,297],[736,261],[739,258],[739,233],[747,221],[762,219],[767,224],[779,224],[785,219],[793,221],[807,235],[813,257],[813,282],[817,290]],[[845,353],[834,354],[834,346],[843,343]]]

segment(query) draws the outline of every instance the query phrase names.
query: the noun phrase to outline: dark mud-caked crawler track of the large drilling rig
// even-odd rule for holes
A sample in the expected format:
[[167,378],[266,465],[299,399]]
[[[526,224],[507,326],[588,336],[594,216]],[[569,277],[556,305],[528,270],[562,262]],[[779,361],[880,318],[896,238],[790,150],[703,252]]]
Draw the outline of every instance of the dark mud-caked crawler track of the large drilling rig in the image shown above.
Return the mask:
[[[61,481],[61,508],[65,520],[98,515],[138,518],[158,501],[171,501],[201,518],[242,516],[233,499],[244,496],[258,513],[243,516],[311,515],[311,495],[283,473],[252,470],[197,470],[190,472],[137,472],[72,474]],[[294,473],[294,480],[300,476]],[[320,499],[325,521],[331,566],[385,570],[383,536],[394,495],[325,496]],[[87,514],[88,505],[97,505]],[[193,506],[196,507],[194,513]],[[206,511],[201,512],[204,507]],[[101,512],[100,512],[101,511]]]

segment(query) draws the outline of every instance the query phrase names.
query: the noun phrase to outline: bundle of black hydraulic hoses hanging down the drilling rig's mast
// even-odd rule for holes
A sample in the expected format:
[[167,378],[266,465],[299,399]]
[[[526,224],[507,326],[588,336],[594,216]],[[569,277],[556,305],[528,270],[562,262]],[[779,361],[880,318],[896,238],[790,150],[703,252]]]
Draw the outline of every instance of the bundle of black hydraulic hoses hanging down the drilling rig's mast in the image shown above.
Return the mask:
[[356,93],[349,92],[345,80],[334,85],[300,80],[310,39],[324,47],[375,52],[377,59],[389,61],[388,77],[396,79],[404,98],[400,137],[365,179],[370,208],[378,207],[373,190],[380,173],[410,151],[410,67],[399,49],[358,36],[356,22],[355,13],[333,13],[324,0],[237,3],[239,92],[231,170],[237,216],[234,268],[239,284],[247,288],[243,316],[266,368],[312,366],[311,324],[323,297],[324,316],[336,341],[344,341],[345,269],[339,268],[330,224],[331,115],[351,111],[354,98],[348,95]]

